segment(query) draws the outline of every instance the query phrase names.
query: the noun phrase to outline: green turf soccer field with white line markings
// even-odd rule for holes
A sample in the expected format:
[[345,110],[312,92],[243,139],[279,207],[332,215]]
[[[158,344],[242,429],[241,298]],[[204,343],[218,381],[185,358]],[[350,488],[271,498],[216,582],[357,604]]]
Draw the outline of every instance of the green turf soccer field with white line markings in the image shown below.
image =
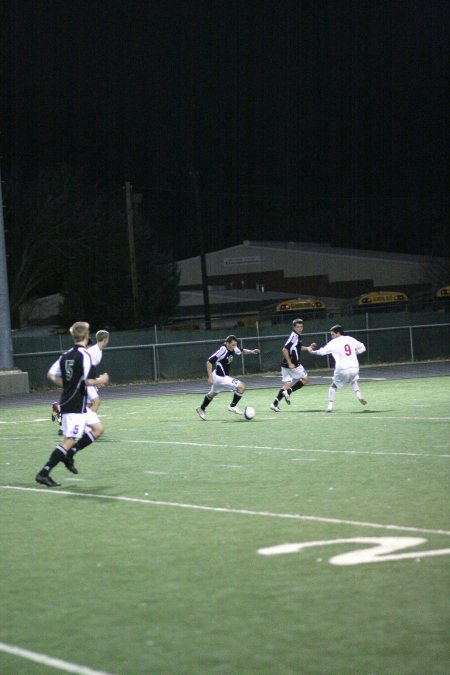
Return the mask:
[[105,390],[55,489],[48,406],[1,409],[0,673],[448,674],[449,378],[361,388]]

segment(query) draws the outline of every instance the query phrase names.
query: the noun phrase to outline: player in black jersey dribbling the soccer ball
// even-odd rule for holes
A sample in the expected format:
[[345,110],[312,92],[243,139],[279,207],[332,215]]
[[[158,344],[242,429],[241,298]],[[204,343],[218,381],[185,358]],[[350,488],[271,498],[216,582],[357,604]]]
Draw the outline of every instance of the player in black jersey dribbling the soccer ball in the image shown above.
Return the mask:
[[211,389],[203,399],[201,406],[196,408],[200,419],[206,420],[205,409],[211,403],[213,398],[221,391],[232,391],[233,399],[228,406],[228,410],[236,415],[242,415],[242,410],[238,408],[238,403],[245,391],[245,383],[234,377],[230,377],[230,364],[234,356],[243,354],[259,354],[259,349],[239,349],[238,339],[235,335],[228,335],[225,342],[217,349],[206,362],[208,372],[208,383]]

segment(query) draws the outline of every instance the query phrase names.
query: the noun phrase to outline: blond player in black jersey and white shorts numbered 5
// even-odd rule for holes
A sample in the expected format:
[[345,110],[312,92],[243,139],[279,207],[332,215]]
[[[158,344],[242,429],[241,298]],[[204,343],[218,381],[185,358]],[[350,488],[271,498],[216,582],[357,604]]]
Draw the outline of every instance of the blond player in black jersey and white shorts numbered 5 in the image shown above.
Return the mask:
[[59,462],[63,462],[72,473],[78,473],[73,463],[71,450],[75,443],[81,450],[95,440],[91,431],[85,429],[86,414],[86,386],[102,386],[107,384],[109,376],[103,373],[95,377],[91,358],[86,351],[89,340],[89,324],[77,321],[70,327],[70,334],[74,346],[61,354],[59,359],[50,367],[47,377],[63,387],[59,402],[62,415],[63,440],[50,455],[48,462],[36,475],[36,481],[47,487],[60,485],[50,476],[50,471]]

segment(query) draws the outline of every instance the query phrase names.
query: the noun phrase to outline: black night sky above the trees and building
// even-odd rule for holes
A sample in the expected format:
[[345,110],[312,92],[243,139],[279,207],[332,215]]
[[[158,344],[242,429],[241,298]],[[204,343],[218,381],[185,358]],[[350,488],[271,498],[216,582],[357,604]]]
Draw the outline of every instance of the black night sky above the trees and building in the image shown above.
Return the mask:
[[8,0],[4,178],[65,162],[155,238],[445,250],[450,3]]

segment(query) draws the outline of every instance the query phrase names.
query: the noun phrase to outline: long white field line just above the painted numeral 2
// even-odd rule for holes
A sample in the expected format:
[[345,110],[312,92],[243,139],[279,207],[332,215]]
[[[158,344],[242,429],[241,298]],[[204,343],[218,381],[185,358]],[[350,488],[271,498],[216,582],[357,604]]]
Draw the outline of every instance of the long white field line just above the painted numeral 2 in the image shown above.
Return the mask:
[[181,502],[163,502],[157,499],[140,499],[138,497],[123,497],[117,495],[90,494],[88,492],[70,492],[56,488],[45,490],[43,488],[26,488],[16,485],[0,485],[3,490],[21,490],[22,492],[38,492],[41,495],[63,495],[65,497],[86,497],[90,499],[109,499],[118,502],[130,502],[132,504],[149,504],[151,506],[170,506],[178,509],[192,509],[194,511],[211,511],[214,513],[233,513],[241,516],[260,516],[263,518],[284,518],[287,520],[309,520],[317,523],[331,523],[333,525],[356,525],[358,527],[373,527],[381,530],[399,530],[401,532],[424,532],[427,534],[446,534],[448,530],[432,530],[424,527],[410,527],[407,525],[384,525],[382,523],[368,523],[360,520],[345,520],[343,518],[325,518],[322,516],[304,516],[300,513],[271,513],[270,511],[250,511],[249,509],[231,509],[224,506],[204,506],[201,504],[183,504]]

